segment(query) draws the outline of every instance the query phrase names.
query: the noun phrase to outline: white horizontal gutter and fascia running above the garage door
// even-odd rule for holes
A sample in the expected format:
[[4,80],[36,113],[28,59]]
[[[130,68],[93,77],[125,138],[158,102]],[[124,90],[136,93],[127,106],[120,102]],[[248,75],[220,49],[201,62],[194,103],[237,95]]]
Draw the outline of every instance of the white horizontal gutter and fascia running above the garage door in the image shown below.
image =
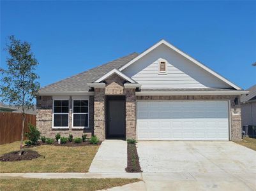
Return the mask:
[[243,95],[249,91],[234,90],[234,91],[147,91],[136,92],[135,95]]

